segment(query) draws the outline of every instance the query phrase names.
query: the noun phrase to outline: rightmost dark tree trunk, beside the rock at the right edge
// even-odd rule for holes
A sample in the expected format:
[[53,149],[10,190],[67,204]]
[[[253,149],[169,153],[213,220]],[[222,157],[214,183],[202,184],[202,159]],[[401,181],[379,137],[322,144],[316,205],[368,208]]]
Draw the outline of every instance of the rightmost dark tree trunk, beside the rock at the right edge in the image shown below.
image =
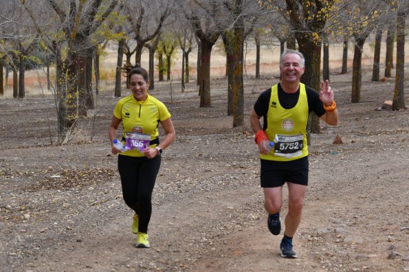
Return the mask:
[[397,12],[396,36],[396,76],[393,94],[393,110],[405,109],[405,21],[406,14]]

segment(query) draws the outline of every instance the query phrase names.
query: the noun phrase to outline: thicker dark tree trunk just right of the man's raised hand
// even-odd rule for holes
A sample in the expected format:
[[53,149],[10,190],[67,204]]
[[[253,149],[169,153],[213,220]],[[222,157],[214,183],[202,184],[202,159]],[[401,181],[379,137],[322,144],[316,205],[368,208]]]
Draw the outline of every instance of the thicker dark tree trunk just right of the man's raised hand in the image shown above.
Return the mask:
[[362,84],[362,49],[365,44],[365,38],[355,38],[355,49],[353,51],[352,68],[352,95],[351,102],[359,103],[361,100]]

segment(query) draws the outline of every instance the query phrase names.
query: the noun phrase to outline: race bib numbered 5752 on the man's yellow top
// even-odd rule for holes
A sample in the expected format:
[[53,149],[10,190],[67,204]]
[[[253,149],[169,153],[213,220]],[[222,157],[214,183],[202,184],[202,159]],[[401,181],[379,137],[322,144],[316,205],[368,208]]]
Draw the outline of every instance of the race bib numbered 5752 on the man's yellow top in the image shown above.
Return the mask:
[[280,135],[276,134],[274,138],[274,155],[285,158],[294,158],[302,155],[304,147],[304,136],[298,135]]

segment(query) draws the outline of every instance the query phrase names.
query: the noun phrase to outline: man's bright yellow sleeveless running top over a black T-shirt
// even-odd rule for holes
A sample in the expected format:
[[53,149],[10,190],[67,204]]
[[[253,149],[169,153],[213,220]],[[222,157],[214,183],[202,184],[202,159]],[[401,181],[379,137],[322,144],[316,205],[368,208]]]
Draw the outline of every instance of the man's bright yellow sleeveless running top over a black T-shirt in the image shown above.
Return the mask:
[[308,99],[305,85],[300,83],[300,96],[294,108],[283,108],[278,100],[278,84],[272,86],[267,111],[265,134],[275,141],[274,148],[267,155],[260,154],[263,160],[287,162],[308,156],[307,123]]

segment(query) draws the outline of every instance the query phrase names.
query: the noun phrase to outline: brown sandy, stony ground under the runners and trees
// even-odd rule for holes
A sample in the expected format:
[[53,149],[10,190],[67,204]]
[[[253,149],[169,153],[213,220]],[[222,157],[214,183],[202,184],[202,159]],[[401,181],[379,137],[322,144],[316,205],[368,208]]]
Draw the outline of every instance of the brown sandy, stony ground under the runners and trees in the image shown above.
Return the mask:
[[0,271],[409,271],[409,112],[375,110],[393,98],[394,79],[371,82],[369,70],[362,102],[351,103],[351,77],[331,74],[340,124],[312,136],[295,260],[280,257],[281,236],[267,230],[248,122],[274,75],[245,79],[245,126],[236,129],[223,77],[212,80],[212,108],[199,108],[195,82],[186,92],[155,83],[177,140],[157,178],[151,249],[133,246],[110,154],[112,86],[64,146],[51,145],[52,96],[2,99]]

